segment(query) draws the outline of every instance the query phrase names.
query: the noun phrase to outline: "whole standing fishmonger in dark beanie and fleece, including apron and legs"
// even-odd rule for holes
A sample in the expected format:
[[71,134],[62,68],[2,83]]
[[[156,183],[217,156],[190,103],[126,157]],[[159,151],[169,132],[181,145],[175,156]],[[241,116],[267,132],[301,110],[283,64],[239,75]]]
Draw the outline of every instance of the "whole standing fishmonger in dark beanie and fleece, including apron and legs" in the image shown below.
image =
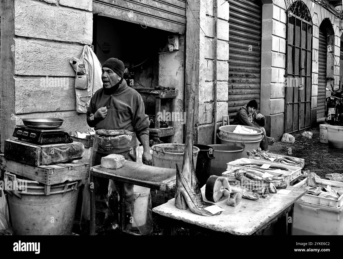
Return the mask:
[[[134,89],[127,86],[126,81],[123,80],[124,63],[117,58],[109,58],[102,66],[103,88],[99,89],[93,95],[90,105],[87,109],[87,123],[95,130],[128,130],[134,132],[143,145],[142,162],[146,165],[152,165],[152,156],[149,147],[149,117],[144,113],[144,103],[142,96]],[[130,134],[128,138],[132,138]],[[95,143],[94,141],[91,164],[92,166],[99,165],[100,159],[108,155],[107,152],[120,153],[126,160],[136,162],[136,150],[132,150],[131,146],[123,146],[118,143],[114,146],[115,137],[105,136],[102,143]],[[95,136],[96,140],[96,136]],[[113,141],[112,141],[113,140]],[[103,143],[105,142],[105,143]],[[110,144],[108,144],[110,143]],[[134,141],[134,143],[136,143]],[[103,146],[102,146],[103,145]],[[110,146],[108,146],[110,145]],[[125,201],[128,204],[132,203],[133,199],[133,185],[125,184]],[[102,197],[105,213],[105,220],[102,223],[103,228],[115,229],[118,227],[117,209],[116,205],[110,201],[114,201],[115,190],[121,188],[118,183],[104,178],[94,179],[95,195]],[[112,197],[112,198],[111,198]],[[89,204],[84,199],[85,204]]]

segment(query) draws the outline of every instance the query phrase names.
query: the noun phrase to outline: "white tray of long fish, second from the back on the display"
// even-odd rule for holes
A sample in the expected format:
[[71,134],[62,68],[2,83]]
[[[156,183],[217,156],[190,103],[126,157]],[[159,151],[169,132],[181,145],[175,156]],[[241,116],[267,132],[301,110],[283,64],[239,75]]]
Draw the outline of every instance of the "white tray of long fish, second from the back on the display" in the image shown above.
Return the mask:
[[[256,164],[269,164],[269,165],[274,165],[274,166],[278,166],[278,167],[282,167],[282,168],[288,168],[291,171],[280,170],[278,174],[279,175],[280,174],[288,175],[289,176],[289,181],[292,181],[298,175],[301,174],[301,168],[300,167],[290,166],[290,165],[285,165],[285,164],[276,164],[276,163],[273,163],[273,162],[262,161],[262,160],[255,160],[255,159],[249,159],[249,158],[239,158],[239,159],[236,159],[236,160],[234,160],[232,162],[227,163],[227,169],[226,170],[231,169],[232,166],[237,166],[237,167],[240,167],[240,168],[253,169],[253,168],[250,168],[250,167],[238,165],[238,164],[248,164],[248,163],[251,163],[251,164],[253,164],[253,163],[256,163]],[[260,169],[260,170],[263,170],[263,169]],[[267,172],[267,173],[271,173],[272,172],[272,170],[263,170],[263,171]],[[274,173],[277,173],[277,171],[274,172]]]

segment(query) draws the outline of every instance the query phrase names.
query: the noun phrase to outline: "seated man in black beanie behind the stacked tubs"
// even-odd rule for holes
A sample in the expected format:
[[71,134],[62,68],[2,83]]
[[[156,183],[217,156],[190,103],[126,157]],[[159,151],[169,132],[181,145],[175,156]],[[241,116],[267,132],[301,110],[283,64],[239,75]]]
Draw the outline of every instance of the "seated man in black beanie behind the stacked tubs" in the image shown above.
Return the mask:
[[233,125],[243,125],[258,128],[263,132],[262,142],[267,142],[267,136],[265,134],[265,118],[259,113],[256,113],[257,102],[251,100],[248,104],[241,106],[237,111],[237,114],[232,122]]

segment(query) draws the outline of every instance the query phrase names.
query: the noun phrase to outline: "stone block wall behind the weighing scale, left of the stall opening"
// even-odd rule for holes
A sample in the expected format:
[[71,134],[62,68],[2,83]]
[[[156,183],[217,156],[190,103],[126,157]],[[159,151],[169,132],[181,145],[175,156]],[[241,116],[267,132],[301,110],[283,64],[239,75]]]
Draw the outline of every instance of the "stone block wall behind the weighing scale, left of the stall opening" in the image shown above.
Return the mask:
[[58,117],[68,131],[88,130],[85,114],[75,111],[69,58],[92,44],[92,0],[15,0],[0,8],[8,16],[1,22],[0,62],[8,77],[1,80],[1,142],[27,117]]

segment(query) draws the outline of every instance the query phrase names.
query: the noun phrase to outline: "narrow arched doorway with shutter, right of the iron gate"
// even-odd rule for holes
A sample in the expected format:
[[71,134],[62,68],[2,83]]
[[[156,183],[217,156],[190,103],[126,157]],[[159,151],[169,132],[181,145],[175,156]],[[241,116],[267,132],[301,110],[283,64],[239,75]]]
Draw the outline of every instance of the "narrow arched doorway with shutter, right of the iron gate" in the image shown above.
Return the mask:
[[317,95],[317,120],[323,120],[325,116],[325,98],[327,87],[327,68],[331,67],[328,63],[330,49],[334,46],[334,31],[329,19],[324,19],[319,26],[319,48],[318,48],[318,95]]

